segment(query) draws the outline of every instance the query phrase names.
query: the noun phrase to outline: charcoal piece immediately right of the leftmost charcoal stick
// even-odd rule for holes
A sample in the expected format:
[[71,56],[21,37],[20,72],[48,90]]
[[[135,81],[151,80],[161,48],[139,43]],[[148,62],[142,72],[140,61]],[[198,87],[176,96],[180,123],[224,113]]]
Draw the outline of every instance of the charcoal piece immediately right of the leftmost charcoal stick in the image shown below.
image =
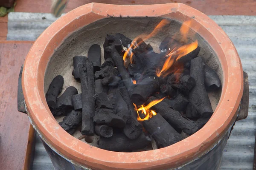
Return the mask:
[[57,116],[67,114],[73,110],[73,102],[72,97],[73,95],[78,94],[77,89],[73,86],[68,87],[64,93],[57,99],[56,102],[56,110]]

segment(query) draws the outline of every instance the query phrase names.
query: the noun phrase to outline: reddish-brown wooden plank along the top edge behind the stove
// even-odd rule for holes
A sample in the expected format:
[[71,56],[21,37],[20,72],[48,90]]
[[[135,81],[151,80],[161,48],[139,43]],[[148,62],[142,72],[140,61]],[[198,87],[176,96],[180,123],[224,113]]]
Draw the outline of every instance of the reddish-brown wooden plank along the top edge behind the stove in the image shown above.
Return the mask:
[[[17,0],[15,11],[51,12],[51,0]],[[256,15],[256,0],[70,0],[65,12],[96,2],[119,5],[184,3],[207,15]]]

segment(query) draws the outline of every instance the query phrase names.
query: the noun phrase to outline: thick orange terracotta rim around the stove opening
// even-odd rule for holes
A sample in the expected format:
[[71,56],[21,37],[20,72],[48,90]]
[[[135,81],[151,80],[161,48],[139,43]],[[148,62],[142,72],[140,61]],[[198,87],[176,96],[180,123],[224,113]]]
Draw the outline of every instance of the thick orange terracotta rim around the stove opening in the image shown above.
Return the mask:
[[[108,11],[105,9],[106,5],[112,9],[117,6],[119,6],[119,8],[107,13]],[[37,127],[49,145],[68,159],[79,164],[87,164],[88,167],[104,170],[178,167],[206,153],[213,144],[218,142],[218,139],[223,136],[223,133],[236,119],[236,110],[239,106],[243,91],[242,67],[237,51],[224,31],[205,14],[181,3],[147,5],[148,9],[141,8],[139,11],[136,9],[138,6],[142,5],[130,6],[131,8],[129,8],[130,13],[134,11],[134,17],[144,17],[147,15],[170,18],[170,14],[176,17],[179,17],[180,14],[190,18],[196,16],[194,18],[195,22],[204,26],[205,29],[207,29],[207,26],[214,28],[214,30],[208,34],[211,34],[216,40],[224,37],[225,40],[223,40],[221,44],[216,45],[215,49],[218,49],[221,55],[221,57],[218,57],[221,60],[221,66],[223,68],[223,87],[225,89],[222,91],[218,107],[207,125],[194,135],[169,147],[137,153],[118,153],[91,147],[89,144],[79,141],[73,136],[70,136],[58,125],[47,106],[45,97],[41,97],[44,96],[44,74],[47,63],[54,49],[61,45],[69,34],[81,28],[79,27],[79,21],[82,20],[90,24],[96,20],[106,18],[107,14],[113,14],[119,17],[119,14],[127,16],[125,14],[128,13],[125,11],[126,6],[100,3],[90,3],[70,11],[49,26],[44,33],[38,37],[38,40],[35,41],[25,60],[22,86],[32,124]],[[148,11],[151,9],[154,9],[154,14]],[[101,14],[99,11],[101,11]],[[84,16],[90,16],[91,18],[87,20],[82,19]],[[92,19],[92,17],[94,18]],[[85,24],[83,26],[85,26]],[[65,29],[67,27],[70,28],[69,31]],[[57,36],[59,34],[65,36],[60,38]],[[51,46],[51,48],[49,48],[49,46]],[[232,63],[227,62],[230,60],[230,57],[233,59]],[[232,83],[232,81],[236,81],[236,84]],[[232,89],[236,89],[236,91],[233,92],[231,91]],[[231,94],[230,91],[232,92]],[[227,99],[230,99],[228,106],[224,105]],[[218,115],[221,113],[226,113],[227,115],[224,116],[224,120],[218,121]],[[207,127],[213,125],[216,126],[216,129],[208,130]],[[209,135],[206,137],[205,135],[207,133],[209,133]],[[201,137],[197,139],[199,136]],[[194,143],[188,144],[193,140]],[[198,144],[195,144],[196,142],[198,142]],[[187,148],[184,150],[183,147]],[[173,151],[177,151],[177,153]],[[108,156],[104,156],[106,154],[108,154]],[[148,159],[143,159],[143,157],[147,156]]]

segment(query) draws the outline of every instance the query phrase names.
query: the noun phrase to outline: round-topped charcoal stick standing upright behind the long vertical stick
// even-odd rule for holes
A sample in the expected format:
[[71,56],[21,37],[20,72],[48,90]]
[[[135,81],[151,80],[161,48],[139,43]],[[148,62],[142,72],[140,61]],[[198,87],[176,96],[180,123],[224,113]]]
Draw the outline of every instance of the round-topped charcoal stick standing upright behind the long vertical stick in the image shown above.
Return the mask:
[[93,72],[99,71],[101,67],[101,49],[98,44],[93,44],[89,48],[88,59],[93,62]]

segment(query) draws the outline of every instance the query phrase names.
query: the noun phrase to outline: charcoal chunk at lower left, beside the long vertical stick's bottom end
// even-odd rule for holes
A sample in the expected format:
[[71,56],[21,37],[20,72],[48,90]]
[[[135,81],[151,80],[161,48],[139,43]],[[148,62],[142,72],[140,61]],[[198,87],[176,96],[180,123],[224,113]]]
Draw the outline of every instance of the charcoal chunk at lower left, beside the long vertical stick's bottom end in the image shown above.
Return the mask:
[[63,118],[62,122],[59,122],[61,127],[67,131],[70,135],[72,135],[82,120],[81,111],[71,111],[66,117]]

